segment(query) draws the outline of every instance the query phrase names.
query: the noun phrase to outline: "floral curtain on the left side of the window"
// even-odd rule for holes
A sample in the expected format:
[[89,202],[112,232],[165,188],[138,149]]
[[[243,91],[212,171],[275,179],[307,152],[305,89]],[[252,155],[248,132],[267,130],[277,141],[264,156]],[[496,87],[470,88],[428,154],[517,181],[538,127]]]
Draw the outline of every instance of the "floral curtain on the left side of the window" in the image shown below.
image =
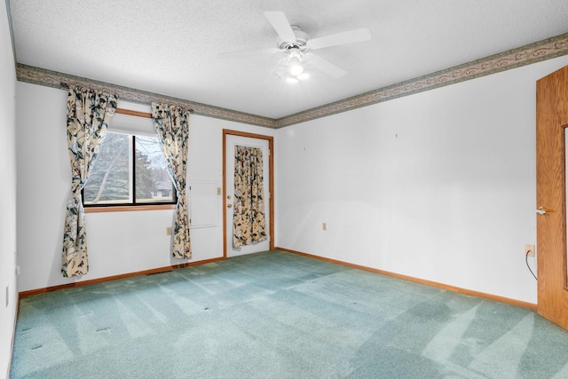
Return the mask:
[[61,272],[64,277],[89,272],[87,233],[81,190],[105,138],[118,98],[101,91],[71,86],[67,96],[67,147],[71,162],[71,191],[63,234]]

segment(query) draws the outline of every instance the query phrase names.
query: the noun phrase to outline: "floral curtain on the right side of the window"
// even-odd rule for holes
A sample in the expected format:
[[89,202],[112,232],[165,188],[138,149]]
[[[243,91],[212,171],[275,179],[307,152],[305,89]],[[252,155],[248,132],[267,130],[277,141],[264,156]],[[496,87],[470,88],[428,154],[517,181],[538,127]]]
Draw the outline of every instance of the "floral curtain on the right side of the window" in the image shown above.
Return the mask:
[[185,192],[187,148],[189,138],[188,109],[152,103],[154,127],[162,152],[168,162],[170,177],[176,186],[177,207],[174,220],[171,253],[177,259],[192,257],[189,237],[189,216]]

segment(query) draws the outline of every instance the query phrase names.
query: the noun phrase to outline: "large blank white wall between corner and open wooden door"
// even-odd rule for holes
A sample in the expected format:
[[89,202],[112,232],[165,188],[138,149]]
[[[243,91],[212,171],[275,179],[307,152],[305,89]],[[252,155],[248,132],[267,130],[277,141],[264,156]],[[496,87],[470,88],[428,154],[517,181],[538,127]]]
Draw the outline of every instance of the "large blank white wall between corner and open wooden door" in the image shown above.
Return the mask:
[[276,246],[536,303],[535,81],[566,64],[279,130]]

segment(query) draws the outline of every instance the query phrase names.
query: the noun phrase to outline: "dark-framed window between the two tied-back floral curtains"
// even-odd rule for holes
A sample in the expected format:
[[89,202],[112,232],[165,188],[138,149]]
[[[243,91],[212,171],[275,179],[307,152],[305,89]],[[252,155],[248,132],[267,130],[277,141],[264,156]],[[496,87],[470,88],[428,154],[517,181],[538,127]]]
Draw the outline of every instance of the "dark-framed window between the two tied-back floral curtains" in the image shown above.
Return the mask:
[[[114,114],[113,118],[119,115],[124,117]],[[150,133],[147,130],[145,133],[143,128],[140,135],[120,128],[116,124],[120,124],[122,117],[119,122],[111,121],[99,147],[99,155],[83,188],[84,206],[175,204],[175,187],[158,138],[145,135]]]

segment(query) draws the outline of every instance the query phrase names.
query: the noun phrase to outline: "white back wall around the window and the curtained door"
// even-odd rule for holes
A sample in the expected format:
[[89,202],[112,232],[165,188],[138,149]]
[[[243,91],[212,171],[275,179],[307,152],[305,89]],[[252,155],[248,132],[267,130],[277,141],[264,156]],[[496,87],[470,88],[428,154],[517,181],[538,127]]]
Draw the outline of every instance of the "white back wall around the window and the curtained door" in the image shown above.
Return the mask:
[[[90,272],[60,273],[65,204],[71,174],[67,155],[67,91],[18,83],[18,264],[20,291],[185,263],[170,257],[173,210],[86,215]],[[150,111],[119,102],[119,107]],[[222,186],[222,130],[274,135],[275,130],[191,116],[188,182]],[[222,198],[217,226],[192,228],[193,261],[223,256]],[[197,215],[192,215],[192,217]]]

